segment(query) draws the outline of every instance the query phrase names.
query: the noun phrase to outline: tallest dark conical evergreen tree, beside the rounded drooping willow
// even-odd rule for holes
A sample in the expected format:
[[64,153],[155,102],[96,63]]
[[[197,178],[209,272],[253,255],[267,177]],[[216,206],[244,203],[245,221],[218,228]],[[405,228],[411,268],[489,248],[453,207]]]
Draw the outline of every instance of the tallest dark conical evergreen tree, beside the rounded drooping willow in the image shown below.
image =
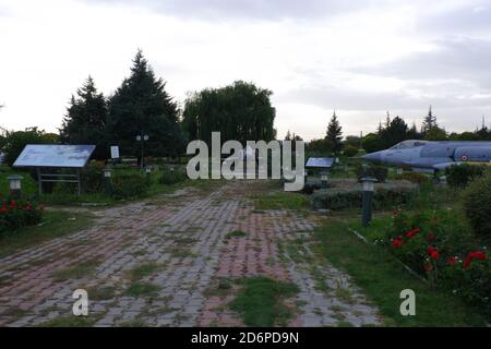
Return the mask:
[[148,135],[145,156],[179,156],[184,137],[178,124],[177,104],[165,91],[141,50],[125,79],[109,100],[108,139],[123,156],[141,158],[137,135]]

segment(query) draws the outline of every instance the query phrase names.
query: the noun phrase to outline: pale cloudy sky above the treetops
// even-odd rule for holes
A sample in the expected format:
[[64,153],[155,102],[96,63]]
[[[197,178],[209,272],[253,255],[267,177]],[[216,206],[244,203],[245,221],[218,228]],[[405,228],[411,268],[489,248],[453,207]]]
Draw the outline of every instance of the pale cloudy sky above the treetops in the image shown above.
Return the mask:
[[0,127],[60,127],[92,75],[110,95],[142,49],[175,100],[236,80],[273,92],[278,137],[374,131],[386,111],[491,123],[491,0],[0,0]]

